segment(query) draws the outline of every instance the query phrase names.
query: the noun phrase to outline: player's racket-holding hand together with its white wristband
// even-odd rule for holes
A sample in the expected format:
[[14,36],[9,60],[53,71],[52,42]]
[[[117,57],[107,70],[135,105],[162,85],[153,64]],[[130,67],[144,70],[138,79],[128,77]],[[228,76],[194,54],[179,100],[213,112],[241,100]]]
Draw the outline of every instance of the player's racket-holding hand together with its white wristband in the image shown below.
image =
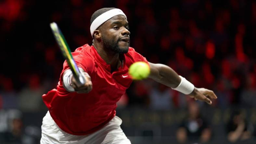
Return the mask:
[[77,93],[89,93],[92,90],[92,81],[91,77],[86,73],[83,68],[78,67],[80,72],[83,74],[85,79],[84,85],[79,85],[76,79],[73,77],[73,74],[70,69],[67,69],[63,73],[62,82],[63,87],[69,92]]

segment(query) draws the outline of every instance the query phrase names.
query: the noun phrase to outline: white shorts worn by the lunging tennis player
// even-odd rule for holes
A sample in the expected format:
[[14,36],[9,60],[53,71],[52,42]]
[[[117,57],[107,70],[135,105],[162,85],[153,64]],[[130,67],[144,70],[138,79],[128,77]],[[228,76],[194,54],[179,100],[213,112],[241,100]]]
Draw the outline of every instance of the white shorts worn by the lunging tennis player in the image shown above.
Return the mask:
[[123,133],[121,124],[121,118],[115,116],[100,130],[92,134],[76,136],[61,130],[48,111],[43,118],[40,144],[131,144]]

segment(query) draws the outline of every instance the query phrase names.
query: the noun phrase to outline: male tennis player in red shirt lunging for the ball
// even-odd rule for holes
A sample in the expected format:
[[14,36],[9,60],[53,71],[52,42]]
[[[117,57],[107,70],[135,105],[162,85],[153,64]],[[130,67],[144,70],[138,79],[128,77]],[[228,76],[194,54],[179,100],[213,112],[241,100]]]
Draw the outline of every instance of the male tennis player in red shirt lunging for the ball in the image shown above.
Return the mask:
[[196,88],[172,68],[152,64],[129,47],[128,21],[122,10],[102,8],[91,18],[93,44],[72,53],[86,80],[79,85],[64,62],[57,90],[43,95],[49,111],[43,118],[41,144],[130,144],[115,116],[116,102],[132,83],[128,68],[137,61],[150,66],[149,78],[196,100],[211,104],[211,90]]

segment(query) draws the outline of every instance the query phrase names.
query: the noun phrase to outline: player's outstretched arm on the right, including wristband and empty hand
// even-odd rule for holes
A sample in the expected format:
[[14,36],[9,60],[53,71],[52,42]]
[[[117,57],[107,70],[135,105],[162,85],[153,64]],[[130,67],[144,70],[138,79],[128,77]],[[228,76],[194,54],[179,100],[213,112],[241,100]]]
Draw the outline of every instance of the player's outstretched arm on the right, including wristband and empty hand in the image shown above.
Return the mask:
[[211,104],[211,99],[217,99],[217,96],[212,90],[205,88],[196,88],[185,78],[179,76],[171,67],[163,64],[149,63],[150,75],[149,78],[164,84],[174,90],[178,90],[184,94],[188,94],[195,100],[205,101]]

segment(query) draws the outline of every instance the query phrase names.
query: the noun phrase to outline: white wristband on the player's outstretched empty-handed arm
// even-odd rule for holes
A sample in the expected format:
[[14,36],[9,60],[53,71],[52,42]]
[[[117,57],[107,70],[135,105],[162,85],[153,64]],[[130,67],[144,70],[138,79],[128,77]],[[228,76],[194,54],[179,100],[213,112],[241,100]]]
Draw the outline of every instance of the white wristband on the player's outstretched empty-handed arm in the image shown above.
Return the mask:
[[183,78],[182,76],[179,77],[181,78],[180,84],[176,88],[172,89],[184,94],[190,94],[194,90],[195,86],[186,80],[186,78]]

